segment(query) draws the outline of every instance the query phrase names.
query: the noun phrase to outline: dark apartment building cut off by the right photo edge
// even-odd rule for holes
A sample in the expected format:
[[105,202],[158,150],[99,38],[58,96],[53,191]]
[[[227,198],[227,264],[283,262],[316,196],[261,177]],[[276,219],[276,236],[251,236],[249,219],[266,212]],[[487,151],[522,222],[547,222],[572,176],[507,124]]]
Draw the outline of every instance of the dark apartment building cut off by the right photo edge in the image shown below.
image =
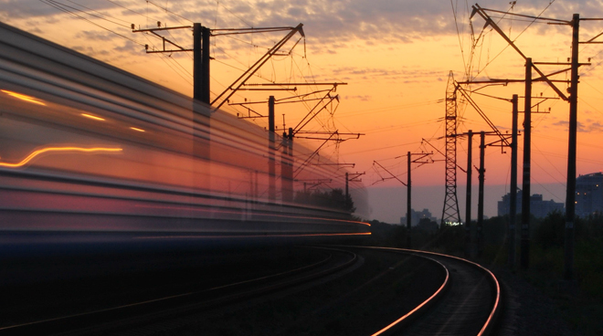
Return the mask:
[[576,179],[576,215],[603,213],[603,173],[587,173]]

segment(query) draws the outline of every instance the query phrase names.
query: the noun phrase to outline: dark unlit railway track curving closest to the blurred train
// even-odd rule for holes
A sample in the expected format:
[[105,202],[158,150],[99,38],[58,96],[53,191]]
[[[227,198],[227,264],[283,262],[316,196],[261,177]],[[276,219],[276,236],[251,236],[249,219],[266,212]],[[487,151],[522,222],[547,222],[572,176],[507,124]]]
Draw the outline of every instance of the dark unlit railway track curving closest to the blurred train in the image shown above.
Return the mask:
[[[318,248],[318,247],[314,247]],[[5,323],[2,334],[108,334],[148,325],[154,320],[178,320],[192,312],[213,310],[228,304],[265,295],[280,289],[289,289],[327,277],[344,268],[352,267],[358,260],[354,253],[335,248],[320,248],[324,257],[310,265],[271,273],[259,278],[248,278],[225,283],[208,289],[185,291],[164,297],[154,297],[125,304],[105,303],[106,307],[86,312]],[[27,314],[24,310],[22,313]],[[178,321],[182,323],[182,319]],[[169,324],[169,322],[167,323]]]

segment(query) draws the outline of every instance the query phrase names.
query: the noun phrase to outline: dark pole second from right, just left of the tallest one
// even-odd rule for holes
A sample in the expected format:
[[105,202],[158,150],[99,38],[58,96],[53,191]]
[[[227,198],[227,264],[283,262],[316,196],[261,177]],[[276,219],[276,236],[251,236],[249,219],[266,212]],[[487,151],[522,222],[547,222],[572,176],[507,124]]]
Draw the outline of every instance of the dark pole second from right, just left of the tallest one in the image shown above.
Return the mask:
[[532,141],[532,58],[525,59],[525,105],[524,105],[524,188],[522,190],[522,244],[521,264],[527,269],[530,264],[530,162]]

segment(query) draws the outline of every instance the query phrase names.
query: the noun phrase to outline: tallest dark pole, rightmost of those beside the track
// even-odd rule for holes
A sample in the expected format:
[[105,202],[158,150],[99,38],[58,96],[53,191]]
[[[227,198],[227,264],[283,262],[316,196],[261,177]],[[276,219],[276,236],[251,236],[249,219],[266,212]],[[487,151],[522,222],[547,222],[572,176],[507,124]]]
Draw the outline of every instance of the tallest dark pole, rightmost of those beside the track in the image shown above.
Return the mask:
[[574,221],[576,216],[576,144],[577,144],[577,84],[578,84],[578,32],[580,16],[572,20],[572,68],[569,94],[569,143],[567,149],[566,233],[564,248],[564,278],[574,278]]

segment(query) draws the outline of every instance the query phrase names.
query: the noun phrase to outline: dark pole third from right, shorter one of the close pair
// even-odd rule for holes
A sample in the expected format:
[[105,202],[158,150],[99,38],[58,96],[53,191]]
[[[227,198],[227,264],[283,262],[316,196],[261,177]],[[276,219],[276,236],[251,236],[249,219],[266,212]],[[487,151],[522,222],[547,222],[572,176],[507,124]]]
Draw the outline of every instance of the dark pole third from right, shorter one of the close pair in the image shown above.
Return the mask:
[[511,134],[511,193],[509,194],[509,259],[510,268],[515,268],[515,222],[517,220],[517,123],[518,123],[518,97],[513,95],[513,131]]

